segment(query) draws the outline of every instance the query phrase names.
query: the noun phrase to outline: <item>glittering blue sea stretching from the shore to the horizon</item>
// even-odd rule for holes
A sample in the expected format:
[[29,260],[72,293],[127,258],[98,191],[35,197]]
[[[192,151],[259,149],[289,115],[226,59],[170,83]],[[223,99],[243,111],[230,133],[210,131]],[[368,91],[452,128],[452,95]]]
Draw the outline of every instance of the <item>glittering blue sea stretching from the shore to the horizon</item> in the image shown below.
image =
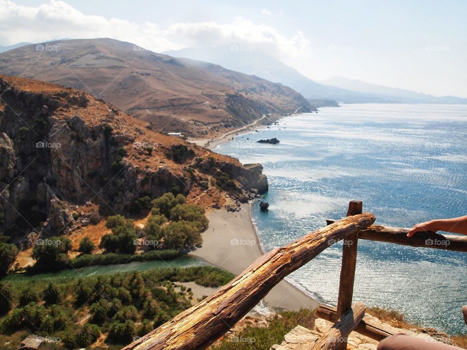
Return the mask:
[[[256,142],[274,137],[279,144]],[[350,200],[394,227],[467,214],[467,105],[326,107],[238,135],[215,151],[264,166],[269,212],[259,203],[251,209],[264,251],[345,216]],[[341,249],[331,246],[288,280],[336,305]],[[466,289],[466,253],[359,241],[354,301],[466,334]]]

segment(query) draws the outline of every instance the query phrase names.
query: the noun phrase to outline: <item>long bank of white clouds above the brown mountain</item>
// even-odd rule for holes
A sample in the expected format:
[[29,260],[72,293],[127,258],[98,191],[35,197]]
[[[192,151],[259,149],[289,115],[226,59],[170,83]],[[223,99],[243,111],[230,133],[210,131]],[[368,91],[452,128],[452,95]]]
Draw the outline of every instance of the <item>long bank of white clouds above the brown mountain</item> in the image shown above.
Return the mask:
[[128,41],[156,52],[230,44],[255,45],[280,57],[303,56],[309,51],[309,41],[303,33],[287,37],[271,26],[242,17],[234,18],[231,23],[173,23],[161,28],[152,22],[133,23],[119,18],[86,15],[60,0],[50,0],[37,7],[0,0],[2,45],[96,37]]

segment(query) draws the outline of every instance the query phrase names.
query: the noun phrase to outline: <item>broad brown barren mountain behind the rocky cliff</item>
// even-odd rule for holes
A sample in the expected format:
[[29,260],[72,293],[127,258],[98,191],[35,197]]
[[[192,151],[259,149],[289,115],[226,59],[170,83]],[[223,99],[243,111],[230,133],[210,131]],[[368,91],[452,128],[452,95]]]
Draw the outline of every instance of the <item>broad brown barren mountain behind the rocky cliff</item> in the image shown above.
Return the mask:
[[298,92],[218,65],[113,39],[58,40],[0,54],[0,73],[79,88],[160,131],[216,136],[266,114],[313,108]]

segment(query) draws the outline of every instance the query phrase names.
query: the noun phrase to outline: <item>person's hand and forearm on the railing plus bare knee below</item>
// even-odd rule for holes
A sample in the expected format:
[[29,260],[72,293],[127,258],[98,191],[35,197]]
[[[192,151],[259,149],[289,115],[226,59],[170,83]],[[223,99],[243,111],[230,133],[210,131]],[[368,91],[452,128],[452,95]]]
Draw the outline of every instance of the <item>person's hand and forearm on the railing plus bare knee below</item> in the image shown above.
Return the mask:
[[[445,231],[467,235],[467,215],[452,219],[437,219],[416,224],[407,237],[412,237],[417,232]],[[453,345],[410,336],[404,333],[391,335],[379,342],[377,350],[459,350]]]

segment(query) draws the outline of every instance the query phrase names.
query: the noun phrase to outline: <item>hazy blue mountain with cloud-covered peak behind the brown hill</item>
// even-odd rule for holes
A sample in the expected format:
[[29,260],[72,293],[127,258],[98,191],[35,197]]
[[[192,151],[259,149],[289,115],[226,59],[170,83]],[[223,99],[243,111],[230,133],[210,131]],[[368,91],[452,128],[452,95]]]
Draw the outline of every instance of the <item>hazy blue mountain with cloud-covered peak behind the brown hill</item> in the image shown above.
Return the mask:
[[323,85],[308,79],[292,67],[278,59],[255,50],[250,46],[218,46],[211,48],[186,48],[165,52],[174,57],[213,62],[231,70],[252,74],[289,86],[309,100],[335,100],[344,103],[384,102],[378,96],[357,91]]

